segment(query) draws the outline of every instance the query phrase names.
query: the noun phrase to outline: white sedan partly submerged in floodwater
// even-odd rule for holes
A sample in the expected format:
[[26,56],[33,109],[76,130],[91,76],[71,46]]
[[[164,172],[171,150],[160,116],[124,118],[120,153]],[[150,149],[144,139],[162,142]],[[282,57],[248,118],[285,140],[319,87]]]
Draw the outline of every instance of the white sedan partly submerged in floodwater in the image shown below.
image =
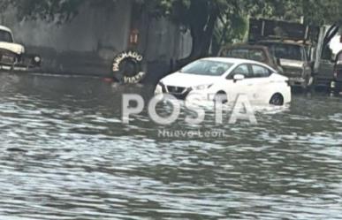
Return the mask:
[[288,78],[270,66],[221,57],[197,60],[163,78],[156,87],[156,95],[160,94],[220,102],[235,102],[239,95],[247,95],[251,103],[277,106],[292,98]]

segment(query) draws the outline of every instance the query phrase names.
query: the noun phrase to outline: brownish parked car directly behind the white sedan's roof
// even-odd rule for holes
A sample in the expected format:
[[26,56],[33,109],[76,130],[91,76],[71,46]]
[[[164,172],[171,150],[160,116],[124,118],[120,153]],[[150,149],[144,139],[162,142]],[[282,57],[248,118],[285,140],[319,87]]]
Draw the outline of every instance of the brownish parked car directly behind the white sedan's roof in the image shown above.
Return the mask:
[[268,64],[278,73],[283,74],[283,68],[277,64],[277,58],[270,53],[270,49],[262,45],[236,44],[224,47],[220,50],[218,57],[254,60]]

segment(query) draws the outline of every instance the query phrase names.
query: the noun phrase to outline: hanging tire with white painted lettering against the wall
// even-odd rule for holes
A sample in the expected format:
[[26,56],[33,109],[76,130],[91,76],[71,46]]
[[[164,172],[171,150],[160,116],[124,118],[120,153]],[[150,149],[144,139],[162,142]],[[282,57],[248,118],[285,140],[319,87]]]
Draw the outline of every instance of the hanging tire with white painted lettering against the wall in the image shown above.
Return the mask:
[[114,80],[120,83],[137,84],[145,78],[147,64],[138,52],[122,52],[114,57],[112,72]]

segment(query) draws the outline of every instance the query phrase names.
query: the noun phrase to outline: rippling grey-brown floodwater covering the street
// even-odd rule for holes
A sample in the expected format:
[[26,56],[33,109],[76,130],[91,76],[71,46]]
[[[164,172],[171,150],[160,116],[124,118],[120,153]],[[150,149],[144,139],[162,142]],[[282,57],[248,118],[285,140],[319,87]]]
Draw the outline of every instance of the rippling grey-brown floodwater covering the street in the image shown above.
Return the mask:
[[342,219],[340,97],[294,95],[258,125],[163,127],[123,125],[123,88],[101,79],[0,80],[0,219]]

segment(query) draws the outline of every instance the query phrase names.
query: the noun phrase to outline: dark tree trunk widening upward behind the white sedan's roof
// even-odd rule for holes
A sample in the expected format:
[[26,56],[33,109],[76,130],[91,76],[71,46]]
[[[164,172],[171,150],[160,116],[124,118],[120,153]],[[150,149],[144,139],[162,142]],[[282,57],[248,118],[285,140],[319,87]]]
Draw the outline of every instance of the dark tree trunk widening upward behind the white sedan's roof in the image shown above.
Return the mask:
[[190,30],[193,37],[192,59],[208,54],[217,20],[225,11],[237,8],[239,0],[156,0],[155,4],[162,16]]

